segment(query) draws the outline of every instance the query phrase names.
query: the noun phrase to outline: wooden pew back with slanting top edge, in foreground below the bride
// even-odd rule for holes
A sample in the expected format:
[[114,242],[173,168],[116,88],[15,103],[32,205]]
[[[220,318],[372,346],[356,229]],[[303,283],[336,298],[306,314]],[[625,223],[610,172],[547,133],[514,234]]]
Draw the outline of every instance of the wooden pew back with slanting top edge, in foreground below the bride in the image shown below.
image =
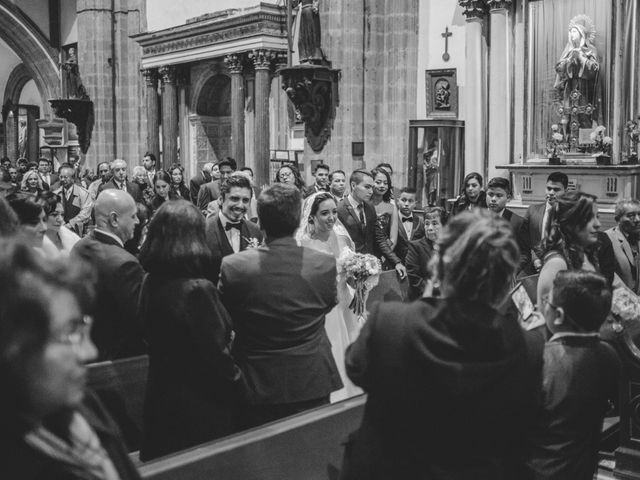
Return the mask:
[[334,480],[366,396],[310,410],[144,464],[145,480]]

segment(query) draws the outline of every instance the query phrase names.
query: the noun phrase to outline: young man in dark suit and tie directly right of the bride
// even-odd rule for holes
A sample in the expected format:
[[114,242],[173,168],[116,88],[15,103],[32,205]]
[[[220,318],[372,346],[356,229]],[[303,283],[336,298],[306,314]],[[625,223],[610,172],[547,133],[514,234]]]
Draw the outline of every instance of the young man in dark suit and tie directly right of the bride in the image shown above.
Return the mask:
[[356,170],[349,177],[351,193],[338,203],[338,218],[349,232],[358,253],[374,254],[376,243],[376,209],[369,203],[373,194],[373,177],[366,170]]

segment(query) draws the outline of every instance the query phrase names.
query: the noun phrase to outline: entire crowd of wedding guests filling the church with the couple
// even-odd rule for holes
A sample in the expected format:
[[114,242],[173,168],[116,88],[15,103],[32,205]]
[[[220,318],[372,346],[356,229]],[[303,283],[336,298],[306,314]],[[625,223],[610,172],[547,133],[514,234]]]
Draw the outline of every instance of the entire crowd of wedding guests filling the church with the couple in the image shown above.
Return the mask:
[[[320,164],[310,186],[286,164],[260,193],[231,158],[188,186],[152,154],[84,186],[44,170],[0,199],[0,473],[138,478],[84,379],[146,353],[143,461],[364,391],[342,478],[592,478],[619,371],[599,331],[612,288],[638,292],[640,202],[601,233],[562,172],[520,217],[509,181],[477,173],[450,211],[418,213],[388,164]],[[363,323],[345,249],[420,300]],[[510,291],[531,274],[523,328]]]

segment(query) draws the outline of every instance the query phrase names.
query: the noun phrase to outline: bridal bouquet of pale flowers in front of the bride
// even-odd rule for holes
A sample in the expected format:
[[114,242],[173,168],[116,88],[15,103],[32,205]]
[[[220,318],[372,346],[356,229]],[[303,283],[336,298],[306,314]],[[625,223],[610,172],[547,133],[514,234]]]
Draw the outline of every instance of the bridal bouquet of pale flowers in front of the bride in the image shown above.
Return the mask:
[[349,308],[360,318],[365,318],[365,304],[369,292],[378,284],[382,265],[373,255],[355,253],[345,248],[338,258],[338,270],[347,279],[355,294]]

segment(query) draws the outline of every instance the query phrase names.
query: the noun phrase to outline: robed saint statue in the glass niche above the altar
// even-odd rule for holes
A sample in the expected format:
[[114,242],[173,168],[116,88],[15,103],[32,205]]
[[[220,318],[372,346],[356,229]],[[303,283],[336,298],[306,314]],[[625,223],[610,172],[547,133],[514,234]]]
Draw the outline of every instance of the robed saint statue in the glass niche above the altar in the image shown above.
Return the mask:
[[573,17],[567,35],[567,45],[555,67],[554,88],[565,134],[575,139],[580,128],[592,128],[597,124],[601,103],[600,64],[594,45],[595,26],[589,17]]

